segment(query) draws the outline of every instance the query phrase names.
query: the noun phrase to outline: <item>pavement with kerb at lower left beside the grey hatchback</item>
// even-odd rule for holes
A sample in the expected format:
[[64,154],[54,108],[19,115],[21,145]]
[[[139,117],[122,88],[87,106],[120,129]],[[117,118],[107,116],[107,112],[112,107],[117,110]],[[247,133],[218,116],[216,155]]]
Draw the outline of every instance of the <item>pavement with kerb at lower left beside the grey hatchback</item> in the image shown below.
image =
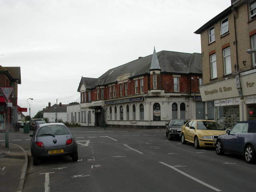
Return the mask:
[[[12,134],[10,132],[9,134]],[[17,132],[15,132],[17,133]],[[19,133],[23,133],[20,129]],[[8,148],[6,147],[8,146]],[[16,144],[0,141],[0,192],[22,192],[28,169],[28,155]]]

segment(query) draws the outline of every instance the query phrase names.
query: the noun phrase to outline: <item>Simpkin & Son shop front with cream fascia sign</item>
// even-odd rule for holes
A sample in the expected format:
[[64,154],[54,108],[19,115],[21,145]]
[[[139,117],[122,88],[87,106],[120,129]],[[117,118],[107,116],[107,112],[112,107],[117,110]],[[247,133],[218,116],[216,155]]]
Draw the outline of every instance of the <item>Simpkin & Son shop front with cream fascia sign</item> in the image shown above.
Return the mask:
[[256,70],[237,74],[235,78],[200,87],[207,111],[214,104],[214,120],[224,128],[238,121],[256,120]]

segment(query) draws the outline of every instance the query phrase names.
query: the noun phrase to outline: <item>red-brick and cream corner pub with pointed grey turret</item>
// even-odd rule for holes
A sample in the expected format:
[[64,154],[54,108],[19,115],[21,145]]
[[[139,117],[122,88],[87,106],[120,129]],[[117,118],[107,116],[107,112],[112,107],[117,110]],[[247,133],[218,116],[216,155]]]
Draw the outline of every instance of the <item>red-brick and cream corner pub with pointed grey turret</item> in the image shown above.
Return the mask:
[[[81,103],[68,106],[68,122],[81,126],[163,128],[170,119],[204,118],[198,53],[161,51],[112,68],[99,78],[82,77]],[[105,112],[106,111],[106,112]]]

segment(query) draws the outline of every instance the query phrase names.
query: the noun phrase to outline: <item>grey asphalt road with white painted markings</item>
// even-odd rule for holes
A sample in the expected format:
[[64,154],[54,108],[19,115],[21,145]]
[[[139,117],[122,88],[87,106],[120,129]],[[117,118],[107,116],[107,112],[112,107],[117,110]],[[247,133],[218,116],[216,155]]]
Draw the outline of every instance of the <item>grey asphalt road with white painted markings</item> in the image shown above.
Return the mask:
[[167,140],[165,130],[70,128],[78,162],[53,158],[32,165],[28,134],[12,143],[29,153],[23,192],[254,192],[255,164]]

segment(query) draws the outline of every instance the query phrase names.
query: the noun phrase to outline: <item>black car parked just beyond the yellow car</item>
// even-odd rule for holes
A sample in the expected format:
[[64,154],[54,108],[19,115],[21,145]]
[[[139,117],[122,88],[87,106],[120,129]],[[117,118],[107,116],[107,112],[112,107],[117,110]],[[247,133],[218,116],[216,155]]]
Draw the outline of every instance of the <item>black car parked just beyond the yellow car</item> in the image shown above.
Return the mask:
[[185,119],[172,119],[166,123],[166,137],[172,140],[173,137],[178,137],[181,134],[181,127],[186,124],[188,120]]

